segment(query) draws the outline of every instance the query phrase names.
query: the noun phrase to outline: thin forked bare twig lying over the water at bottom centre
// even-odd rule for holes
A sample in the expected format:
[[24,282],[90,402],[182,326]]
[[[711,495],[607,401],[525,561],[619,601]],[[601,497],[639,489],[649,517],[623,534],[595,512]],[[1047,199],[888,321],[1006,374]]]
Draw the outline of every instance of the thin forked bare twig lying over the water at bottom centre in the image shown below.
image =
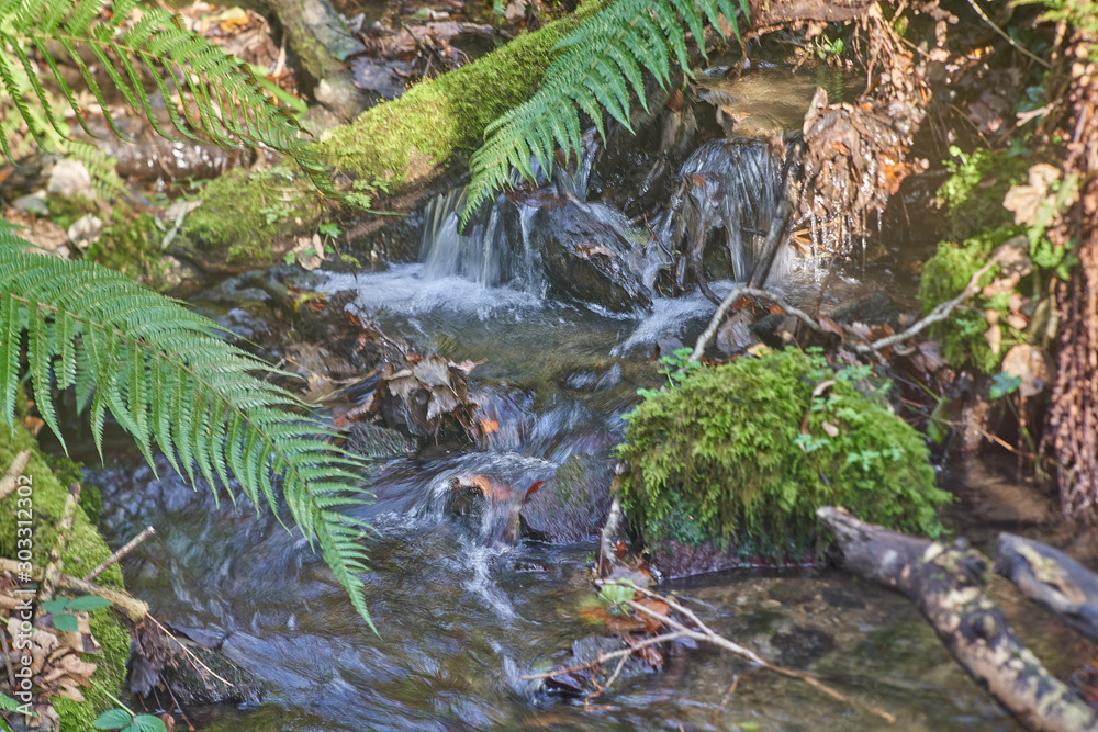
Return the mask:
[[811,674],[807,674],[805,672],[799,672],[799,671],[794,671],[792,668],[785,668],[784,666],[776,666],[776,665],[770,663],[769,661],[766,661],[765,658],[763,658],[762,656],[760,656],[754,651],[752,651],[752,650],[750,650],[748,647],[744,647],[744,646],[742,646],[742,645],[740,645],[738,643],[735,643],[735,642],[728,640],[727,638],[725,638],[720,633],[714,631],[712,628],[709,628],[708,626],[706,626],[702,621],[702,619],[698,618],[697,615],[693,610],[691,610],[690,608],[683,607],[673,597],[668,597],[668,596],[664,596],[664,595],[660,595],[659,593],[654,593],[654,592],[652,592],[652,590],[650,590],[648,588],[645,588],[645,587],[638,587],[636,584],[634,584],[631,582],[607,581],[607,582],[604,582],[603,584],[606,584],[606,585],[621,585],[621,586],[626,586],[626,587],[631,587],[636,592],[641,593],[641,594],[646,595],[647,597],[650,597],[650,598],[652,598],[654,600],[658,600],[660,603],[665,603],[668,605],[668,607],[670,607],[675,612],[679,612],[680,615],[682,615],[684,618],[686,618],[686,620],[688,622],[693,623],[693,628],[690,627],[690,626],[687,626],[684,622],[681,622],[681,621],[675,620],[674,618],[670,617],[670,613],[664,615],[662,612],[658,612],[658,611],[656,611],[656,610],[653,610],[653,609],[651,609],[649,607],[646,607],[645,605],[642,605],[640,603],[637,603],[636,600],[625,600],[625,605],[627,605],[629,608],[631,608],[632,610],[635,610],[637,612],[641,612],[641,613],[645,613],[645,615],[649,616],[653,620],[657,620],[660,623],[662,623],[664,627],[670,628],[671,631],[666,632],[666,633],[661,633],[659,635],[653,635],[652,638],[645,639],[645,640],[636,643],[635,645],[630,645],[629,647],[625,647],[625,649],[621,649],[619,651],[612,651],[612,652],[608,652],[608,653],[600,653],[593,661],[591,661],[589,663],[585,663],[585,664],[580,664],[580,665],[576,665],[576,666],[568,666],[565,668],[556,668],[553,671],[542,672],[542,673],[538,673],[538,674],[527,674],[527,675],[523,676],[524,679],[551,678],[553,676],[559,676],[561,674],[574,673],[574,672],[578,672],[578,671],[593,671],[593,669],[602,666],[603,664],[605,664],[608,661],[614,661],[615,658],[618,660],[618,663],[615,666],[614,672],[610,674],[610,676],[606,679],[605,683],[603,683],[602,685],[600,685],[600,684],[595,684],[594,682],[592,682],[592,684],[594,684],[594,686],[595,686],[595,691],[593,691],[592,694],[589,694],[587,697],[584,699],[584,703],[586,703],[592,698],[594,698],[594,697],[598,696],[600,694],[603,694],[606,690],[608,690],[610,688],[610,686],[614,685],[614,682],[616,682],[617,678],[618,678],[618,676],[621,674],[621,669],[625,667],[626,661],[628,661],[628,658],[630,656],[632,656],[635,653],[637,653],[641,649],[645,649],[645,647],[648,647],[648,646],[651,646],[651,645],[659,645],[661,643],[669,643],[669,642],[677,641],[677,640],[682,640],[682,639],[690,639],[690,640],[697,641],[697,642],[701,642],[701,643],[709,643],[710,645],[716,645],[717,647],[720,647],[720,649],[724,649],[726,651],[729,651],[729,652],[731,652],[731,653],[733,653],[733,654],[736,654],[736,655],[738,655],[738,656],[740,656],[742,658],[746,658],[747,661],[755,664],[757,666],[761,666],[762,668],[765,668],[766,671],[771,671],[771,672],[774,672],[775,674],[780,674],[780,675],[786,676],[788,678],[795,678],[797,680],[804,682],[805,684],[808,684],[809,686],[811,686],[817,691],[820,691],[821,694],[825,694],[825,695],[831,697],[832,699],[834,699],[837,701],[841,701],[843,703],[856,707],[858,709],[861,709],[862,711],[864,711],[866,713],[873,714],[875,717],[879,717],[881,719],[885,720],[889,724],[893,724],[893,723],[896,722],[896,718],[893,714],[888,713],[887,711],[885,711],[883,709],[879,709],[878,707],[874,707],[872,705],[867,705],[864,701],[860,701],[858,699],[848,697],[847,695],[842,694],[841,691],[839,691],[839,690],[834,689],[833,687],[828,686],[824,682],[819,680],[818,678],[816,678]]

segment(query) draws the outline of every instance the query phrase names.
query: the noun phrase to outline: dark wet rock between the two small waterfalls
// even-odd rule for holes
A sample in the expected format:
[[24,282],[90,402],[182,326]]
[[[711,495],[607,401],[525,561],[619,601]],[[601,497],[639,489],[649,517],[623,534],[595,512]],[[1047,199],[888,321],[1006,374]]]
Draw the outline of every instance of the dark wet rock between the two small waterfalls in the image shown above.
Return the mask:
[[625,216],[600,204],[565,201],[540,209],[530,241],[550,293],[617,313],[651,307],[652,297],[630,266],[626,229]]

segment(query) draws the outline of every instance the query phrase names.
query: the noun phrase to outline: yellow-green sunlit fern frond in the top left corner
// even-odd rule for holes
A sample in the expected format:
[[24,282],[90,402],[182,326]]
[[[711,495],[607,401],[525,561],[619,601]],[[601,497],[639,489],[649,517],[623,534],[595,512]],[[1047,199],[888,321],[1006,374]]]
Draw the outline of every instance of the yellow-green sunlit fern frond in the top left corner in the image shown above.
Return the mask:
[[[45,139],[47,129],[60,138],[68,134],[58,126],[55,109],[63,102],[46,93],[40,76],[57,85],[64,103],[90,134],[77,97],[58,68],[60,59],[79,70],[112,132],[127,139],[110,113],[102,85],[80,55],[85,50],[157,133],[274,150],[294,158],[323,190],[333,190],[325,168],[306,148],[295,117],[264,93],[247,65],[188,31],[172,13],[139,0],[22,0],[2,20],[0,83],[35,139]],[[27,55],[31,48],[44,66]],[[55,58],[51,48],[63,53]],[[147,85],[163,94],[172,129],[153,112]]]

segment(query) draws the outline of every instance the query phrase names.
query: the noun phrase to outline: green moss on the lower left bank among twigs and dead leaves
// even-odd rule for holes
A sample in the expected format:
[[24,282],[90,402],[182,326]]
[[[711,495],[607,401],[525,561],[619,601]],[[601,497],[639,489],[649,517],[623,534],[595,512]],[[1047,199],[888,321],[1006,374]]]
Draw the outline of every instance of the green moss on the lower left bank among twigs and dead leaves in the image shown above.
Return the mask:
[[[0,426],[0,466],[7,470],[15,454],[30,448],[31,462],[24,471],[32,480],[34,488],[34,554],[33,563],[44,566],[49,552],[57,540],[56,525],[60,520],[68,488],[49,469],[45,457],[38,451],[37,443],[24,429],[16,428],[9,432]],[[11,500],[9,498],[9,500]],[[15,511],[0,511],[0,555],[15,555]],[[99,536],[99,531],[88,520],[82,509],[77,509],[72,533],[68,539],[65,554],[65,574],[83,576],[100,562],[111,555],[110,549]],[[117,566],[108,568],[97,579],[99,584],[122,587],[122,571]],[[87,732],[91,730],[92,721],[103,710],[114,707],[107,696],[115,696],[122,688],[126,675],[126,660],[130,656],[130,631],[111,609],[96,610],[91,613],[92,635],[102,645],[102,653],[86,654],[85,661],[97,664],[92,677],[92,688],[81,689],[86,701],[76,703],[67,699],[55,698],[54,706],[61,719],[64,732]]]

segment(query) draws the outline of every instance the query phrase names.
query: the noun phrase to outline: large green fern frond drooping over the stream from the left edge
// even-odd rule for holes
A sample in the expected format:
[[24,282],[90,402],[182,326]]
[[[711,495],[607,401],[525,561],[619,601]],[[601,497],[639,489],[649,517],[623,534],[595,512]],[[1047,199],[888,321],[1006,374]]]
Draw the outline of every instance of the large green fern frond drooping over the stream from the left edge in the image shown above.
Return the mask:
[[29,247],[0,221],[0,421],[13,425],[25,352],[35,404],[63,444],[53,392],[75,385],[78,404],[91,401],[100,454],[110,413],[149,464],[158,446],[215,496],[229,473],[257,510],[278,515],[281,493],[373,628],[359,576],[365,525],[340,510],[362,503],[363,461],[326,441],[332,433],[292,394],[254,376],[269,367],[217,338],[211,320],[124,274]]

